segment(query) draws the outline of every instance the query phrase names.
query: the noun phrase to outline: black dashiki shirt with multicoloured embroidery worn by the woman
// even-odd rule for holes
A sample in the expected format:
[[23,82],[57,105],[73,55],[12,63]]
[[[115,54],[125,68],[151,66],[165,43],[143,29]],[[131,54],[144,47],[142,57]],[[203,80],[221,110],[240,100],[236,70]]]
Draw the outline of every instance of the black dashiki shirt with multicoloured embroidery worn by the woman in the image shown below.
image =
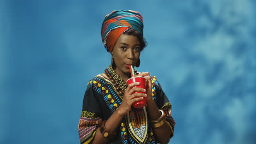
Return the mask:
[[[172,131],[171,135],[166,136],[171,138],[175,124],[171,116],[171,104],[156,77],[152,76],[151,80],[152,97],[158,109],[166,113],[166,121]],[[99,74],[89,81],[78,124],[80,143],[90,143],[94,139],[101,122],[108,119],[122,103],[122,96],[118,94],[106,74]],[[124,116],[114,137],[108,143],[157,143],[150,127],[147,106],[131,109]]]

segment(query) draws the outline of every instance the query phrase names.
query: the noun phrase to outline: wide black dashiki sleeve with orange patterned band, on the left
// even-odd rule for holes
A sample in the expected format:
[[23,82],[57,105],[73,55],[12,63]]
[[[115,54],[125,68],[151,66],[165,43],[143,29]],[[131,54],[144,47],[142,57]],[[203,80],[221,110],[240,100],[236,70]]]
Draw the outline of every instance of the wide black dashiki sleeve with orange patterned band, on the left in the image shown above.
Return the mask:
[[83,109],[78,124],[80,143],[90,143],[94,139],[97,128],[101,123],[100,103],[93,88],[88,85],[84,94]]

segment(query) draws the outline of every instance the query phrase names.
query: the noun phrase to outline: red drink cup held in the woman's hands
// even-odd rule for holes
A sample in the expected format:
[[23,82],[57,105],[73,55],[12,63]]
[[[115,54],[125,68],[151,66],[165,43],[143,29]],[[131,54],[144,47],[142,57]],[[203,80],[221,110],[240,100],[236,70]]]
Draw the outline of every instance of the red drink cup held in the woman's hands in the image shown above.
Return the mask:
[[[127,85],[130,85],[133,82],[139,82],[139,85],[135,86],[135,87],[140,87],[140,88],[146,89],[146,79],[144,77],[142,77],[142,76],[131,77],[126,82],[127,82]],[[135,92],[135,93],[146,93],[146,92]],[[146,98],[143,97],[142,100],[136,101],[132,105],[135,108],[141,108],[141,107],[146,105]]]

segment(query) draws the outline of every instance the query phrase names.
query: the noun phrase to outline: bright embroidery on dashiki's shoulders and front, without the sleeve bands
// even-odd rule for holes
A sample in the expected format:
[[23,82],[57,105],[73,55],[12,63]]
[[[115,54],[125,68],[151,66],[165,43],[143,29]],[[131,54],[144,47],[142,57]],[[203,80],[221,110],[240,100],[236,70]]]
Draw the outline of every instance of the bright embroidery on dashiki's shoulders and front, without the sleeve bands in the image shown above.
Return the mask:
[[[155,85],[157,85],[157,81],[154,76],[152,76],[152,82],[152,95],[156,100]],[[112,112],[117,109],[123,100],[115,91],[113,83],[105,75],[97,75],[88,83],[88,86],[103,97]],[[142,110],[131,110],[125,117],[120,125],[120,135],[124,143],[156,143],[145,107]]]

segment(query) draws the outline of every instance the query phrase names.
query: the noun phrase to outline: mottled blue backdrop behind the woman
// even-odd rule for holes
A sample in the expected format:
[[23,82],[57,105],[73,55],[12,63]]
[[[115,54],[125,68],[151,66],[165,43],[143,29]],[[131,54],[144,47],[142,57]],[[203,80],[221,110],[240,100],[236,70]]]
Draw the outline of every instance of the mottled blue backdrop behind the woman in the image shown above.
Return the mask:
[[256,143],[256,2],[0,1],[0,143],[79,143],[87,82],[110,64],[104,16],[144,17],[139,71],[173,105],[170,143]]

